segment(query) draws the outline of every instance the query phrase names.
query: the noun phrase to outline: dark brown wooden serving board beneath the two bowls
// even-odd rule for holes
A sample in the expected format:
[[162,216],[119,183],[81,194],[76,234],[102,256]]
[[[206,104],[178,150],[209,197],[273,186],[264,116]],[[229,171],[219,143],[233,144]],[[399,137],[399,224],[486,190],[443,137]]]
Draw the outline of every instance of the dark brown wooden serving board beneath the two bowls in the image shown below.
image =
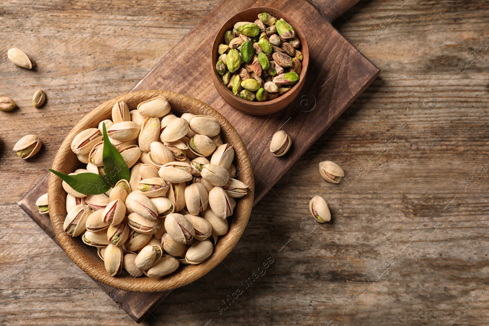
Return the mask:
[[[355,47],[331,24],[357,1],[321,0],[316,8],[306,0],[222,0],[132,91],[179,92],[200,99],[224,115],[241,135],[250,154],[256,204],[379,74],[379,69],[363,55],[356,55]],[[232,108],[210,78],[210,49],[215,33],[235,13],[256,6],[288,13],[301,25],[310,52],[302,93],[289,107],[265,116],[251,116]],[[277,130],[285,130],[293,142],[282,157],[268,151],[269,141]],[[49,217],[39,214],[35,206],[37,198],[47,192],[48,175],[22,197],[19,205],[57,242]],[[170,293],[129,292],[95,282],[137,323]]]

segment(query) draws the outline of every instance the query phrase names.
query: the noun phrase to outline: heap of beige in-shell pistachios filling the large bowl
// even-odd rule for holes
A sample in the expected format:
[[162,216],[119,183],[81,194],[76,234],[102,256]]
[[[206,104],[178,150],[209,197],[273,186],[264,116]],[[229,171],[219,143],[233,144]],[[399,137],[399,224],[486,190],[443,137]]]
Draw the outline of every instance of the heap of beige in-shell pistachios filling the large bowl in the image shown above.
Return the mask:
[[[104,174],[102,123],[130,168],[130,180],[89,196],[63,181],[67,234],[97,247],[111,276],[124,269],[133,277],[159,278],[209,258],[227,233],[235,198],[248,189],[234,178],[234,149],[222,141],[219,122],[191,113],[178,117],[162,96],[132,111],[118,102],[112,120],[73,139],[72,151],[87,164],[73,174]],[[45,195],[36,204],[49,212]]]

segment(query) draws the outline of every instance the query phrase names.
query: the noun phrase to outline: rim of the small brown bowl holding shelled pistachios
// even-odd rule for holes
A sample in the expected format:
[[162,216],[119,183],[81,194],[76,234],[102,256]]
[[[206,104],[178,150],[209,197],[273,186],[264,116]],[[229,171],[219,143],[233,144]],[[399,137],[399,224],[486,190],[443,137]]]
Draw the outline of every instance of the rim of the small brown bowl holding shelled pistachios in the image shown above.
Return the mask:
[[[263,102],[258,102],[258,101],[246,101],[244,99],[242,99],[241,97],[239,96],[236,96],[234,95],[230,90],[229,88],[225,87],[223,84],[222,84],[222,76],[220,76],[217,71],[216,71],[216,64],[217,64],[217,59],[219,58],[219,56],[217,55],[217,52],[215,51],[214,48],[216,48],[217,50],[217,46],[219,44],[221,44],[222,40],[218,40],[218,37],[219,37],[219,34],[220,34],[220,31],[225,27],[225,25],[229,25],[229,21],[232,21],[232,20],[236,20],[237,17],[239,17],[240,15],[243,15],[245,13],[247,13],[248,11],[255,11],[257,9],[260,9],[260,11],[263,11],[263,12],[266,12],[266,11],[275,11],[275,12],[279,12],[282,17],[280,18],[284,18],[284,20],[286,20],[287,22],[292,22],[290,23],[291,25],[294,25],[294,29],[296,30],[296,37],[299,38],[297,36],[297,30],[300,31],[300,34],[302,34],[302,37],[299,38],[299,41],[301,42],[301,52],[302,54],[304,55],[304,52],[306,52],[307,55],[304,55],[304,59],[303,59],[303,62],[304,60],[306,61],[306,65],[302,65],[302,70],[301,70],[301,73],[300,73],[300,79],[299,79],[299,82],[298,83],[295,83],[294,85],[292,85],[292,88],[290,88],[290,90],[271,100],[271,101],[263,101]],[[236,22],[239,22],[239,20],[236,20]],[[233,24],[234,26],[234,24]],[[304,51],[304,48],[306,49],[306,51]],[[299,87],[300,84],[302,84],[304,82],[304,80],[306,79],[306,74],[307,74],[307,70],[308,70],[308,67],[309,67],[309,45],[308,45],[308,42],[307,42],[307,38],[306,38],[306,34],[304,34],[304,31],[302,30],[301,26],[292,18],[290,17],[287,13],[279,10],[279,9],[275,9],[275,8],[271,8],[271,7],[263,7],[263,6],[259,6],[259,7],[251,7],[251,8],[247,8],[247,9],[244,9],[238,13],[236,13],[235,15],[233,15],[232,17],[230,17],[228,20],[226,20],[226,22],[224,22],[221,27],[219,28],[218,32],[216,33],[216,36],[214,37],[214,42],[212,43],[212,49],[211,49],[211,53],[212,53],[212,57],[211,57],[211,68],[212,68],[212,73],[213,73],[213,77],[218,79],[218,84],[220,85],[220,87],[227,93],[229,93],[229,95],[232,95],[233,97],[236,98],[236,100],[246,106],[250,106],[250,107],[267,107],[267,106],[271,106],[271,105],[274,105],[274,104],[277,104],[277,103],[280,103],[280,102],[283,102],[284,100],[286,100],[289,96],[292,96],[293,94],[293,91],[295,91],[295,89],[297,89]],[[302,63],[301,63],[302,64]],[[216,83],[214,83],[216,84]],[[217,87],[217,86],[216,86]],[[227,101],[226,101],[227,102]],[[236,108],[237,109],[237,108]],[[283,109],[283,108],[281,108]],[[281,109],[278,109],[278,110],[281,110]],[[267,113],[264,113],[264,114],[268,114],[268,113],[273,113],[273,112],[276,112],[278,110],[274,110],[274,111],[270,111],[270,112],[267,112]]]

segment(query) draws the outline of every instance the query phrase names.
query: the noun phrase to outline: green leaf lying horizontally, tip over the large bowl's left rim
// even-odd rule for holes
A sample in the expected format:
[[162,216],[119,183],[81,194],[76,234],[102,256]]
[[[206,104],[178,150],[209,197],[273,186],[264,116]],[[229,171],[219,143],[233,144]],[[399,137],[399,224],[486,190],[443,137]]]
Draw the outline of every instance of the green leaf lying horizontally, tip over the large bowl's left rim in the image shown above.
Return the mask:
[[103,176],[94,173],[62,174],[58,171],[48,169],[73,188],[73,190],[85,195],[100,195],[111,189],[111,183]]

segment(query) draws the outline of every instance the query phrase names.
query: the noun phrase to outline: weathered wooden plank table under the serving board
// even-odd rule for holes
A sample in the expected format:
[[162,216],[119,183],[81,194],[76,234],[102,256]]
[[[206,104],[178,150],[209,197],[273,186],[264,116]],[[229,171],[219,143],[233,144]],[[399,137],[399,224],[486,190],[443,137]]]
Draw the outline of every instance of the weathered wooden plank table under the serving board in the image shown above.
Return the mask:
[[[134,325],[16,201],[83,115],[133,88],[217,3],[158,2],[2,3],[0,96],[19,109],[0,112],[0,325]],[[486,325],[488,14],[484,1],[372,0],[337,20],[380,77],[260,201],[223,263],[144,323]],[[7,61],[13,46],[43,63],[35,75]],[[9,150],[26,133],[44,146],[22,161]],[[327,159],[350,184],[319,176]],[[331,199],[332,222],[315,225],[314,195]]]

